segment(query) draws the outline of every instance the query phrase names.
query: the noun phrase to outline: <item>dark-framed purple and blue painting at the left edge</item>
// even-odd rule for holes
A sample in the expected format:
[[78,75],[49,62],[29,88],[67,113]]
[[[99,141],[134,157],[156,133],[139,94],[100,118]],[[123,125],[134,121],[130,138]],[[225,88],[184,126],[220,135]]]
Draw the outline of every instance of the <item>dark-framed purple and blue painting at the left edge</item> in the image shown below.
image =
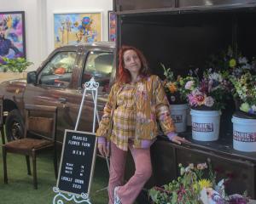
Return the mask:
[[0,59],[26,57],[24,11],[0,12]]

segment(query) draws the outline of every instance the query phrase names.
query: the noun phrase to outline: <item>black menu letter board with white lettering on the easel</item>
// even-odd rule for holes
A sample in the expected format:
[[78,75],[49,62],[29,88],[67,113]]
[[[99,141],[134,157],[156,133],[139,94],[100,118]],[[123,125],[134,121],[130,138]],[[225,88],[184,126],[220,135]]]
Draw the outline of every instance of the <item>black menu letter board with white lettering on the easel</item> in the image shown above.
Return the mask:
[[67,194],[90,193],[96,158],[95,133],[65,130],[57,187]]

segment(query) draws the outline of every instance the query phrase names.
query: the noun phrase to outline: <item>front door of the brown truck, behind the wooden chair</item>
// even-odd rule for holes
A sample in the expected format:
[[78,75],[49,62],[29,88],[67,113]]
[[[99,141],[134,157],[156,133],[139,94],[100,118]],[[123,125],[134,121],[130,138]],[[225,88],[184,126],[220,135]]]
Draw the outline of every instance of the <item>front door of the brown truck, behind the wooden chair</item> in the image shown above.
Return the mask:
[[72,93],[73,72],[78,67],[80,53],[60,51],[38,71],[37,84],[27,84],[24,103],[58,107],[57,141],[62,142],[64,130],[73,127],[67,95]]

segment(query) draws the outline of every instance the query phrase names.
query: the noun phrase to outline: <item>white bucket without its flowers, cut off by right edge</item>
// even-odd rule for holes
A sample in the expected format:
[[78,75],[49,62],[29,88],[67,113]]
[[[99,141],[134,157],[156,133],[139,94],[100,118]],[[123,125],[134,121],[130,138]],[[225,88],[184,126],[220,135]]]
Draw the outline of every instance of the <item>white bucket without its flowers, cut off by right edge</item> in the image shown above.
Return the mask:
[[256,151],[256,119],[233,116],[233,148],[240,151]]

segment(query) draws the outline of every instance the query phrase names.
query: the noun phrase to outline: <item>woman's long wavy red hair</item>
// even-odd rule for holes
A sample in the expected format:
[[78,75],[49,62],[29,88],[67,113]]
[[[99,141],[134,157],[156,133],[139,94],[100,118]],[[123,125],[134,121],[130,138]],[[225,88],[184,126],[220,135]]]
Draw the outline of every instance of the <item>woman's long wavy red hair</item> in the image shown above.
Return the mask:
[[142,67],[140,69],[140,76],[147,77],[150,74],[150,71],[148,68],[148,62],[145,56],[143,55],[143,53],[137,48],[134,48],[132,46],[122,46],[119,49],[119,70],[116,76],[117,82],[121,82],[121,83],[131,82],[131,74],[128,70],[125,69],[125,62],[124,62],[124,54],[125,54],[125,51],[127,50],[133,50],[137,53],[137,56],[142,63]]

